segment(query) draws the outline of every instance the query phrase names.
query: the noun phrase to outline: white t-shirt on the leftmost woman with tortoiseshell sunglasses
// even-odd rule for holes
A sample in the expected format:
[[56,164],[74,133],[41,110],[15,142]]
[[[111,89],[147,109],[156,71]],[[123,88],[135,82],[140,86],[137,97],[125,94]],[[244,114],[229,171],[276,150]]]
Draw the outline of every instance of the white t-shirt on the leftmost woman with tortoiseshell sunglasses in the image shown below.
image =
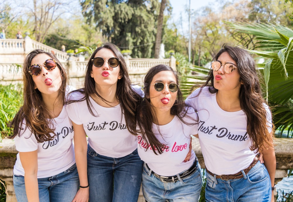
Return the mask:
[[[74,146],[72,139],[74,136],[71,120],[69,119],[65,107],[55,120],[55,133],[57,134],[51,141],[38,143],[35,135],[31,134],[29,128],[21,130],[21,137],[14,138],[16,150],[28,152],[38,150],[38,178],[45,178],[57,175],[69,169],[74,163]],[[23,122],[25,128],[25,121]],[[52,134],[53,136],[53,134]],[[21,164],[19,153],[16,156],[16,163],[13,169],[15,175],[24,176],[24,169]]]

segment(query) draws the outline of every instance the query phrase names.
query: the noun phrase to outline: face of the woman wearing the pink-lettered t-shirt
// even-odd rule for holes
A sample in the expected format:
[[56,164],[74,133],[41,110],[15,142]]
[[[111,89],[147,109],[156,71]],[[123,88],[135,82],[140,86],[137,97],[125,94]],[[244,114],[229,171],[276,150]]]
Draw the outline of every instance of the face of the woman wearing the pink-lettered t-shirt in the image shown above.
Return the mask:
[[[161,82],[164,84],[162,91],[155,90],[155,83]],[[177,97],[177,91],[169,91],[168,85],[176,83],[176,77],[172,71],[161,71],[154,75],[149,89],[149,98],[151,105],[155,110],[159,111],[170,111],[174,105]]]

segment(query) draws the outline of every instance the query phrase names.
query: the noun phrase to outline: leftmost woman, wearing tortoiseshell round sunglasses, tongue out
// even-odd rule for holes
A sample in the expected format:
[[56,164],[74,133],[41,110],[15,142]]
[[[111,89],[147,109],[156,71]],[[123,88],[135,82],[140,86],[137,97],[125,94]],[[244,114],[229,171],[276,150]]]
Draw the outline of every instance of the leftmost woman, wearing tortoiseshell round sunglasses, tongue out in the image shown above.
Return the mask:
[[65,104],[67,72],[57,58],[33,50],[23,63],[23,106],[13,118],[18,150],[13,169],[17,201],[71,202],[79,188]]

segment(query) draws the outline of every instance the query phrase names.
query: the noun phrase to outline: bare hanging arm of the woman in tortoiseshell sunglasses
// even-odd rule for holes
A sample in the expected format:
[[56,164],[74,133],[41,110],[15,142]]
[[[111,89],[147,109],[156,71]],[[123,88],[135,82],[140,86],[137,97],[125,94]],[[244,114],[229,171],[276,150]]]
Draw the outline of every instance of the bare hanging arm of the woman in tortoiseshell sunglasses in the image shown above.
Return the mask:
[[38,202],[38,150],[19,152],[19,158],[24,169],[25,192],[28,201]]

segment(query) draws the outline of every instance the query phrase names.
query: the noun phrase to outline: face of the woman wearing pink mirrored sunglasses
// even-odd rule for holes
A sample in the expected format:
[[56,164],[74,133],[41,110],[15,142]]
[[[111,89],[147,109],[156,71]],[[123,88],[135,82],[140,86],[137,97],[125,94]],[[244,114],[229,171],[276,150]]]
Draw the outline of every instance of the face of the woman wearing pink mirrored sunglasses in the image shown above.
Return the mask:
[[[217,71],[213,71],[214,75],[214,87],[218,90],[238,90],[240,91],[241,82],[240,74],[236,62],[230,57],[227,52],[222,53],[218,60],[222,65]],[[236,68],[231,73],[224,71],[224,65],[226,63],[233,64]]]

